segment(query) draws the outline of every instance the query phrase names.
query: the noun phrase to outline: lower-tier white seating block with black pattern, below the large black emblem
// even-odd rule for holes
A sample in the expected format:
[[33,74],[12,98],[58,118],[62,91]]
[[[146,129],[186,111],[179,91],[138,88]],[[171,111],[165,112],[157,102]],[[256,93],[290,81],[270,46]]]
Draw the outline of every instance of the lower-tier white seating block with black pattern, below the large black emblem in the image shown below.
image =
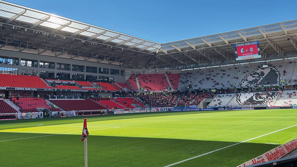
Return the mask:
[[275,104],[278,92],[253,92],[253,93],[239,93],[232,103],[243,105],[251,103],[252,105]]

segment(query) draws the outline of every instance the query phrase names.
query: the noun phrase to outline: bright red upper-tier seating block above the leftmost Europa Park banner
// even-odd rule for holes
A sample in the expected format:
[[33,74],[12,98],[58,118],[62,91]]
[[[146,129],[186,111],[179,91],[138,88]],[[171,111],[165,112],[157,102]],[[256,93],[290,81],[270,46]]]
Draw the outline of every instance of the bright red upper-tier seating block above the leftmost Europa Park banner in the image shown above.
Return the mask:
[[0,74],[0,87],[20,87],[20,88],[52,88],[41,80],[38,76]]

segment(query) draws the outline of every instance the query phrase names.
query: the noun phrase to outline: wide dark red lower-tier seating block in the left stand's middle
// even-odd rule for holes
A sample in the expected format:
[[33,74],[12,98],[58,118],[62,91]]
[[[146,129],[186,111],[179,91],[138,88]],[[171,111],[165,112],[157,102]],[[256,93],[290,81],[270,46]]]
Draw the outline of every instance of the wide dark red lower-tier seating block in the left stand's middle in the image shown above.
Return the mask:
[[106,109],[104,106],[93,101],[92,99],[85,100],[51,100],[55,105],[59,106],[65,111],[72,110],[99,110]]

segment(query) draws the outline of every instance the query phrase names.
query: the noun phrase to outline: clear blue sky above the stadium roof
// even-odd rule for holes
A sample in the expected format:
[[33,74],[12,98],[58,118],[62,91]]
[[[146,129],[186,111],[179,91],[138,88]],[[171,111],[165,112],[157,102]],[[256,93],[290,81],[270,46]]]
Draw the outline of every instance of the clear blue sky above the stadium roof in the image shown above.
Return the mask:
[[9,2],[160,43],[297,19],[296,0]]

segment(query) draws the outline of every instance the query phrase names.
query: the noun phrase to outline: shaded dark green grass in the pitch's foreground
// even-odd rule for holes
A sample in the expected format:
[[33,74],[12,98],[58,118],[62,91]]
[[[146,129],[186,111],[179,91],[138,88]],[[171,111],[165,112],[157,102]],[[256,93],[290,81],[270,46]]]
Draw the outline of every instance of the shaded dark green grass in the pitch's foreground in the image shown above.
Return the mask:
[[[81,142],[80,135],[0,134],[0,155],[5,156],[1,166],[84,165],[84,143]],[[163,167],[235,143],[237,142],[89,135],[88,165]],[[174,166],[237,166],[277,146],[240,143]]]

